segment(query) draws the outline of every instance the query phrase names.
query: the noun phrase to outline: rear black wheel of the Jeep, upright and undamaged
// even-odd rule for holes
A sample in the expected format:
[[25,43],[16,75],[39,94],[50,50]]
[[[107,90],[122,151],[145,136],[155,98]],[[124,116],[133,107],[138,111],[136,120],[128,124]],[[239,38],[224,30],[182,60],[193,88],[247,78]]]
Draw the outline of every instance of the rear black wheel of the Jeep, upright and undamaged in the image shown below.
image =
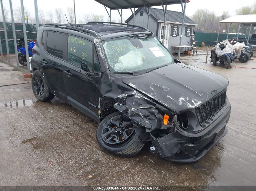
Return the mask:
[[32,76],[32,90],[39,101],[50,101],[54,98],[42,72],[36,70]]

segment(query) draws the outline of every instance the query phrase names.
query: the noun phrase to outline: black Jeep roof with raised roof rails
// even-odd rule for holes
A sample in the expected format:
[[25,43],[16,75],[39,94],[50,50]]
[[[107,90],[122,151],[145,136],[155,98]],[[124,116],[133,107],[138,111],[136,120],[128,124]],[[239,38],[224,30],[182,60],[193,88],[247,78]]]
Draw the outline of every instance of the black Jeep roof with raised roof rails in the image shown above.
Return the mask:
[[[104,24],[107,23],[107,24]],[[77,30],[79,32],[87,33],[93,37],[102,37],[104,39],[110,39],[115,37],[122,37],[139,33],[151,33],[146,28],[122,24],[126,26],[120,26],[121,23],[108,23],[108,22],[89,22],[87,24],[58,24],[58,23],[46,23],[44,26],[58,27],[71,30]],[[152,34],[152,33],[151,33]]]

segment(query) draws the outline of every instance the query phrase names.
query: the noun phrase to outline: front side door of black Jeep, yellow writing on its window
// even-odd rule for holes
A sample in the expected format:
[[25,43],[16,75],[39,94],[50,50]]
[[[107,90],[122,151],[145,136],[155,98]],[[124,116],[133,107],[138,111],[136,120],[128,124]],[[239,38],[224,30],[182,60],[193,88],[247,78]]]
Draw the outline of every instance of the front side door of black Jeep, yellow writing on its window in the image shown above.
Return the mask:
[[[67,42],[68,63],[63,76],[68,103],[98,121],[101,72],[94,44],[72,35]],[[80,69],[81,62],[87,63],[89,72]]]

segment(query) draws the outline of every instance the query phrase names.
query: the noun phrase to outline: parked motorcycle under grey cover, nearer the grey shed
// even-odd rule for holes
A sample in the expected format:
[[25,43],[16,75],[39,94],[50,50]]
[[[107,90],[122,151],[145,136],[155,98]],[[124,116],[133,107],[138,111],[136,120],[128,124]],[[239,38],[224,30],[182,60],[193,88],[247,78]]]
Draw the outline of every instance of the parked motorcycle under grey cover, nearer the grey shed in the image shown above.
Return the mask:
[[[226,68],[230,68],[230,65],[233,61],[233,54],[231,44],[228,45],[229,42],[225,42],[223,44],[213,44],[210,46],[214,46],[213,49],[211,49],[211,62],[215,66],[217,65],[217,61],[219,60],[220,63],[224,64]],[[226,48],[226,46],[228,47]]]

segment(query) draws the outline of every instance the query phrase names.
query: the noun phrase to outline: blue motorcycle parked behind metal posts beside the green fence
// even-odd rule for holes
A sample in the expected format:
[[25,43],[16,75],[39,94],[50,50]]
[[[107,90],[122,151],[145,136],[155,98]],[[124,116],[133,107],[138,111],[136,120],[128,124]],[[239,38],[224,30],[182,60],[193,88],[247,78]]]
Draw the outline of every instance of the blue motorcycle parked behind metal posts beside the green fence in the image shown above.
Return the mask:
[[[28,56],[31,59],[32,55],[33,55],[33,47],[35,46],[35,42],[32,40],[28,40]],[[18,59],[19,59],[19,63],[23,66],[27,65],[27,58],[26,58],[26,49],[25,49],[25,42],[24,42],[24,38],[22,37],[18,44]],[[30,60],[29,59],[29,60]],[[30,62],[30,61],[29,61]],[[30,64],[30,63],[29,63]]]

